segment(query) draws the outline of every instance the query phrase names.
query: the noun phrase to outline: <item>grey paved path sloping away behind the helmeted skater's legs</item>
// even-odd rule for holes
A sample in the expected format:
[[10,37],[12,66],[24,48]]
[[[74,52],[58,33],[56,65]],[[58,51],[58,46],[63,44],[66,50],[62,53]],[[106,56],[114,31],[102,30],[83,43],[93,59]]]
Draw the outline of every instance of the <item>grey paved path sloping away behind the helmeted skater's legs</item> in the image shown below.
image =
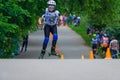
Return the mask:
[[[86,45],[84,40],[78,34],[68,27],[58,27],[58,34],[59,40],[57,46],[58,49],[61,50],[61,53],[64,54],[65,59],[80,59],[81,55],[88,58],[90,47]],[[37,59],[42,48],[43,38],[43,30],[30,33],[28,51],[21,53],[15,58]],[[50,47],[51,40],[49,41],[47,52],[50,51]],[[48,57],[48,54],[46,54],[45,59],[58,59],[58,57]]]

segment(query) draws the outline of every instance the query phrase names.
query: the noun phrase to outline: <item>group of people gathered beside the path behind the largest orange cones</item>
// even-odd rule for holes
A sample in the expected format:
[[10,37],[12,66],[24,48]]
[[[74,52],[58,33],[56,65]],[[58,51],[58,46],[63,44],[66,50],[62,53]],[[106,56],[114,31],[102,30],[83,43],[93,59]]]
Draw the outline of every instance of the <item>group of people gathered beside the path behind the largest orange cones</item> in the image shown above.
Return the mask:
[[98,28],[92,28],[87,26],[87,35],[92,35],[92,50],[95,55],[98,55],[101,49],[103,58],[105,57],[107,48],[110,48],[110,52],[113,59],[118,58],[119,54],[119,42],[118,40],[104,30],[99,30]]

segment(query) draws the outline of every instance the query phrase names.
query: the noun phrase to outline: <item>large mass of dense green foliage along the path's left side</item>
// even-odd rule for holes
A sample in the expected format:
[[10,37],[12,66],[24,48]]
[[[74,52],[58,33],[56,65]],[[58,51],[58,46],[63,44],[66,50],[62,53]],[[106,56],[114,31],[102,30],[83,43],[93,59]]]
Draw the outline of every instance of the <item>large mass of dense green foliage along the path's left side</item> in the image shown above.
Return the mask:
[[31,16],[12,0],[2,1],[0,11],[0,55],[10,57],[12,53],[18,54],[18,42],[30,30]]

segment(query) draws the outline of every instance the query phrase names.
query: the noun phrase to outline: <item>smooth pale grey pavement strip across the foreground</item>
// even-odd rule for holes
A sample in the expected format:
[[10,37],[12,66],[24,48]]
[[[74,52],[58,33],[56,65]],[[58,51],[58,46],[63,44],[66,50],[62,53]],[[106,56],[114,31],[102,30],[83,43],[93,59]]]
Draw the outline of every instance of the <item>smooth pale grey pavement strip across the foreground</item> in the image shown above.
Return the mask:
[[0,60],[0,80],[120,80],[120,60]]

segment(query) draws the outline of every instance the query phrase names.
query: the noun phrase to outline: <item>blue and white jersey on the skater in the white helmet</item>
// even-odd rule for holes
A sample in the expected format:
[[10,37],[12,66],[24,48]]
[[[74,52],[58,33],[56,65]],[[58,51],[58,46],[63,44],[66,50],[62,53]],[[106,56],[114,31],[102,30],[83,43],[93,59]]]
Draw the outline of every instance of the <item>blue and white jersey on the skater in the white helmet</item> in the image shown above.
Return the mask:
[[44,18],[44,23],[50,26],[56,25],[59,20],[59,11],[55,10],[53,12],[49,12],[48,8],[46,8],[45,13],[42,15],[42,18]]

